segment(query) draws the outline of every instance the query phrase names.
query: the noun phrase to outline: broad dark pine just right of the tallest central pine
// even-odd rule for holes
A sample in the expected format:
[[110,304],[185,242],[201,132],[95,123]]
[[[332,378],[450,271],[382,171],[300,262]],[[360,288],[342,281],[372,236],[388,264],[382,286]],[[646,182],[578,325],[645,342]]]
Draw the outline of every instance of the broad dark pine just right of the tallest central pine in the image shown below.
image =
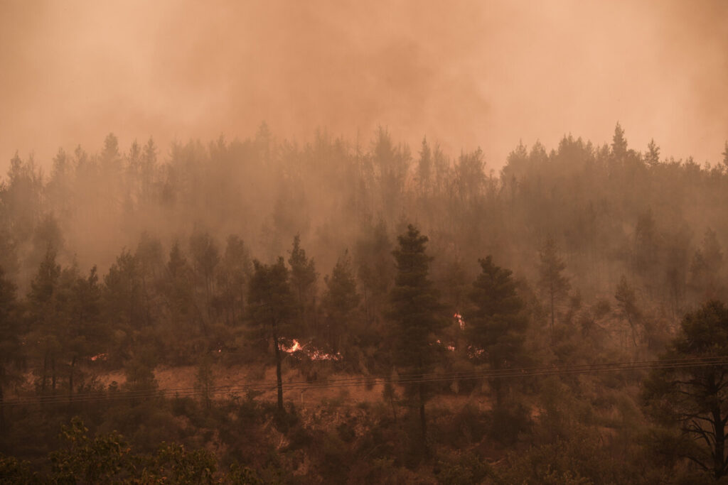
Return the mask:
[[[466,332],[470,342],[485,352],[491,369],[507,369],[523,360],[523,342],[528,318],[518,296],[510,270],[494,265],[491,256],[478,260],[482,273],[473,282],[470,301],[475,308],[466,313]],[[496,403],[501,406],[503,381],[491,380]]]

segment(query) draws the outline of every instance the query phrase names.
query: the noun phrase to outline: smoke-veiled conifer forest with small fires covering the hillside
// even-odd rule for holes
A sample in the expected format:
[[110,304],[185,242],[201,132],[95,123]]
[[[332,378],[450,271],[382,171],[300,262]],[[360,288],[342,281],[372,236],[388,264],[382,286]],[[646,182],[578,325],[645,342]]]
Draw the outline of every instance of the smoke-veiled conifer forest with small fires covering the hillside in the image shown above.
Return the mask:
[[16,153],[0,483],[728,483],[728,143],[611,137]]

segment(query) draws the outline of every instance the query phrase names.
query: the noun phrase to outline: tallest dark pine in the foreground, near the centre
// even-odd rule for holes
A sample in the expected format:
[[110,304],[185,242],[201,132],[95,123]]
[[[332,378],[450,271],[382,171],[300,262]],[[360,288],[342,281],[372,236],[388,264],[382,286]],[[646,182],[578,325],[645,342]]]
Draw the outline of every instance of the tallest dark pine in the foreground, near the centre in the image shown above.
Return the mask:
[[[397,276],[389,294],[389,316],[395,324],[392,329],[394,361],[404,374],[428,374],[440,360],[438,347],[433,345],[435,334],[446,325],[445,319],[440,316],[443,307],[428,278],[432,260],[425,253],[428,239],[410,224],[397,240],[400,246],[392,252],[397,262]],[[422,380],[416,380],[406,385],[405,391],[410,398],[416,399],[419,406],[422,444],[427,453],[424,406],[430,398],[430,386]]]

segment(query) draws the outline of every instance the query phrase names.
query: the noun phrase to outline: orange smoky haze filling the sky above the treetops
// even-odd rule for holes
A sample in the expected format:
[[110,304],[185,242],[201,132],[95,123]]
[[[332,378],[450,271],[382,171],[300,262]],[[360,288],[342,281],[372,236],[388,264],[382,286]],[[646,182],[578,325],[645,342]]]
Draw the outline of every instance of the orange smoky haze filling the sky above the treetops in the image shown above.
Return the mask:
[[481,146],[566,133],[720,160],[723,1],[4,1],[0,167],[31,151],[317,128]]

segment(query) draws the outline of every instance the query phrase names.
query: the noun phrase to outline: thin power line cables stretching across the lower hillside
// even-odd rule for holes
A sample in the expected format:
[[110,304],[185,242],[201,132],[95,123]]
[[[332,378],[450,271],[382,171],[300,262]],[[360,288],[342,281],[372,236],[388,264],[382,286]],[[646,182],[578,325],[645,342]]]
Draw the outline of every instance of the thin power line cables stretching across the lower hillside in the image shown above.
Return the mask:
[[[323,388],[349,388],[373,385],[405,385],[419,382],[448,382],[452,380],[478,380],[478,379],[513,379],[521,377],[546,377],[550,375],[594,374],[598,372],[634,372],[651,369],[686,369],[708,366],[728,366],[728,356],[681,358],[662,361],[630,361],[601,364],[571,364],[534,366],[514,369],[487,369],[470,372],[438,372],[424,374],[403,374],[395,377],[344,377],[339,379],[322,380],[318,382],[291,381],[283,382],[284,390],[307,390]],[[258,382],[256,384],[221,385],[213,386],[207,390],[199,387],[193,388],[167,388],[130,391],[100,391],[99,393],[85,393],[75,395],[33,396],[30,398],[15,398],[4,401],[8,406],[28,406],[33,404],[71,404],[91,401],[134,400],[162,397],[193,397],[205,394],[215,395],[228,393],[237,395],[250,392],[266,392],[276,390],[277,382]]]

